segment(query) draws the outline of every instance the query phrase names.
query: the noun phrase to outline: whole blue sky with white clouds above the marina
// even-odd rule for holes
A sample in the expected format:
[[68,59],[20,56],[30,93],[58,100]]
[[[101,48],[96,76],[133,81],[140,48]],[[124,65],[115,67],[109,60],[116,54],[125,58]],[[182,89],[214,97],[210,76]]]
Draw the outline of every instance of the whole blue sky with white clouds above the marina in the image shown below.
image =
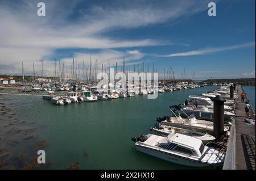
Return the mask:
[[[115,62],[149,66],[163,77],[255,78],[255,1],[40,1],[0,0],[0,74],[52,76]],[[216,3],[216,16],[208,3]],[[84,63],[83,63],[84,62]]]

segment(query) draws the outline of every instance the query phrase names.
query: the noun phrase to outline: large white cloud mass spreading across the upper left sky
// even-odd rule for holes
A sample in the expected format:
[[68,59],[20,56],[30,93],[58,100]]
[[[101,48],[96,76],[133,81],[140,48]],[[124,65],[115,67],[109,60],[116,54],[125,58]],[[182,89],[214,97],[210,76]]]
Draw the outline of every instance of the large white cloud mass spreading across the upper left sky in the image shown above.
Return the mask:
[[[51,56],[60,48],[104,49],[92,54],[94,59],[120,61],[138,60],[144,54],[135,51],[118,52],[106,50],[112,48],[164,45],[152,39],[117,39],[108,37],[106,31],[129,29],[150,24],[173,22],[183,16],[189,16],[207,9],[207,2],[167,1],[163,3],[147,1],[119,1],[108,6],[92,6],[79,9],[81,1],[44,1],[46,16],[36,15],[36,1],[0,2],[0,65],[1,73],[20,72],[20,63],[31,71],[32,61]],[[78,8],[78,9],[77,9]],[[71,18],[76,12],[75,18]],[[136,52],[138,51],[138,52]],[[88,54],[76,54],[77,60],[83,60]],[[63,62],[69,62],[66,58]],[[46,70],[52,69],[51,61],[44,61]],[[52,71],[52,70],[51,70]]]

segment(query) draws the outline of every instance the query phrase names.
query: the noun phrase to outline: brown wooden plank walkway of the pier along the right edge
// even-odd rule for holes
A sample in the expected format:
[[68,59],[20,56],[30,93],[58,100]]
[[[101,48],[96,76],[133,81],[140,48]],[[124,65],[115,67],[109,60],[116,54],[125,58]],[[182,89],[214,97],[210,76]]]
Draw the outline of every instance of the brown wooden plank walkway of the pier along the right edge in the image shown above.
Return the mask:
[[[238,99],[236,103],[236,170],[255,170],[255,125],[245,123],[245,103],[241,103],[242,87],[238,86]],[[247,99],[245,99],[246,101]],[[250,109],[249,117],[254,112]],[[255,117],[254,117],[255,118]]]

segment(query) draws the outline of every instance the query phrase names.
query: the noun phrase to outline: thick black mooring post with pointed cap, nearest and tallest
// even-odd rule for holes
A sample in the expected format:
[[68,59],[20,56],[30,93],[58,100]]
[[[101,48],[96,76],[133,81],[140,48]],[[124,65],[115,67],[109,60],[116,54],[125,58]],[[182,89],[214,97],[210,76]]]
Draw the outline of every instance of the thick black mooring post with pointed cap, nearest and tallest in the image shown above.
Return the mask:
[[220,95],[213,98],[213,136],[218,141],[224,137],[224,102]]

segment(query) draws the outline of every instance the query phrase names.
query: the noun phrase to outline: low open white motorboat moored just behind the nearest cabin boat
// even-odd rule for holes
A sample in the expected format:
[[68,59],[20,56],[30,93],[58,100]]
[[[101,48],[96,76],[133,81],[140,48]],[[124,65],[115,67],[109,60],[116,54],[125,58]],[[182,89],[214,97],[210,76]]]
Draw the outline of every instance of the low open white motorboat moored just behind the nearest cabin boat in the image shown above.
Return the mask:
[[161,123],[156,123],[156,127],[151,128],[150,130],[152,130],[156,133],[160,133],[162,135],[169,135],[169,134],[175,134],[175,133],[185,134],[187,136],[195,137],[195,138],[203,141],[203,143],[207,143],[209,141],[215,140],[214,136],[207,134],[207,133],[197,132],[197,131],[193,131],[190,129],[170,127],[167,125],[161,125]]

